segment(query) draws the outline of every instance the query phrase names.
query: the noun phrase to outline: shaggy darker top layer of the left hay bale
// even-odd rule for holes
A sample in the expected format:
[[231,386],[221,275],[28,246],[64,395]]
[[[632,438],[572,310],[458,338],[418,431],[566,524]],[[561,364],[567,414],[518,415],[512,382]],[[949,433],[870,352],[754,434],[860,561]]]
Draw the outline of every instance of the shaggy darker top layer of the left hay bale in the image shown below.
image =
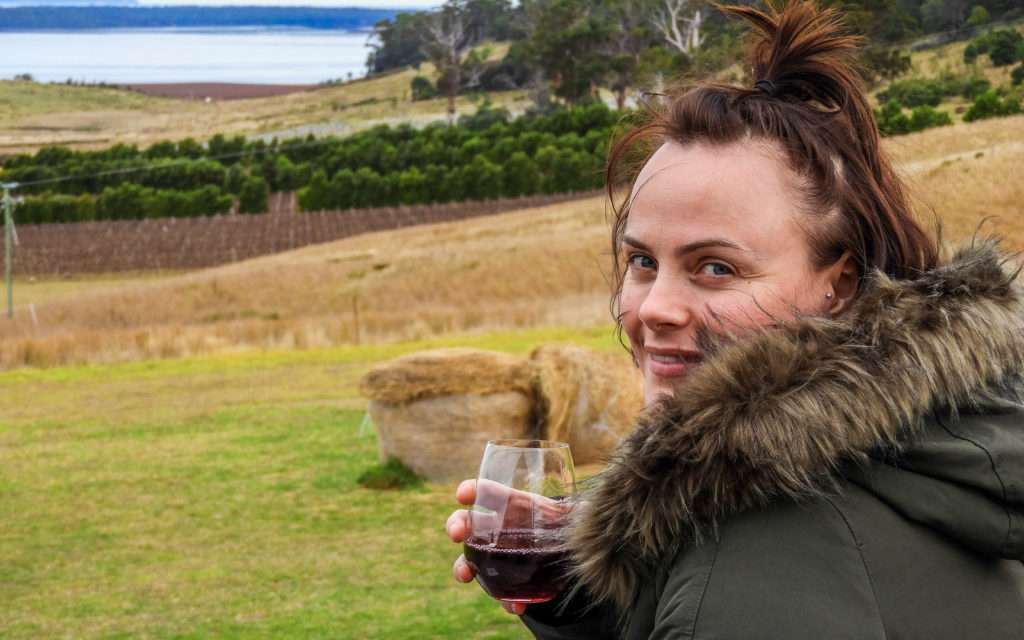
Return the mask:
[[390,404],[466,393],[531,393],[525,358],[469,348],[418,351],[382,362],[364,376],[359,391]]

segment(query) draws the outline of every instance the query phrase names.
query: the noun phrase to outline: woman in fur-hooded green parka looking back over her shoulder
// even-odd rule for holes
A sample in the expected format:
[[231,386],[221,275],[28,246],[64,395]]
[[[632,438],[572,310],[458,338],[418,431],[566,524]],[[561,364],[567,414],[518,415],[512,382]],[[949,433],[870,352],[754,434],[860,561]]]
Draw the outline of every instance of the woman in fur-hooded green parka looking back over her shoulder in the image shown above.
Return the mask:
[[541,638],[1024,638],[1016,271],[939,259],[833,13],[725,10],[757,82],[609,163],[653,147],[613,227],[648,411],[573,513],[575,587],[506,608]]

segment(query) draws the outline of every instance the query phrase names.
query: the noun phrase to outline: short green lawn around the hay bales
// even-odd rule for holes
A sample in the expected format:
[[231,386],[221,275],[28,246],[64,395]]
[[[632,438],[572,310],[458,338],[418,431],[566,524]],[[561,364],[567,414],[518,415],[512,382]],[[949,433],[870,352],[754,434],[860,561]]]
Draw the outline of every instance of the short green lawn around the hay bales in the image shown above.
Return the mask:
[[528,638],[458,585],[453,485],[371,492],[355,384],[461,344],[610,328],[0,374],[0,637]]

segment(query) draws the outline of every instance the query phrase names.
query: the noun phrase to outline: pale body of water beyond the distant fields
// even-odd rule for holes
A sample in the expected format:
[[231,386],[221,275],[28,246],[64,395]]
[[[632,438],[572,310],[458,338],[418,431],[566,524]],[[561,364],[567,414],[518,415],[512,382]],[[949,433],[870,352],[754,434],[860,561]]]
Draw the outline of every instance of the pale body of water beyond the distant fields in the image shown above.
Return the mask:
[[365,75],[369,37],[304,29],[0,32],[0,78],[314,84]]

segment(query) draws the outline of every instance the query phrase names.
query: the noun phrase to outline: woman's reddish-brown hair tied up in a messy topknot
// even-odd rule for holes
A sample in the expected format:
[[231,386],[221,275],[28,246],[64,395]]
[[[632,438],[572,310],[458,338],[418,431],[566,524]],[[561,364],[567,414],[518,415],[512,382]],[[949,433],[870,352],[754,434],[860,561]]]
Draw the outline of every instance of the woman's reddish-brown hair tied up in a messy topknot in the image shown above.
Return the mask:
[[[846,251],[861,282],[876,269],[903,279],[935,266],[936,240],[911,215],[854,71],[852,57],[862,39],[843,35],[839,14],[811,1],[791,0],[769,13],[719,8],[752,24],[746,55],[757,82],[751,87],[694,84],[664,112],[649,109],[650,121],[612,150],[606,178],[614,211],[615,298],[623,285],[621,242],[629,217],[629,197],[616,195],[620,175],[638,146],[649,147],[642,166],[669,141],[717,145],[753,137],[780,147],[803,178],[798,222],[816,267],[834,263]],[[631,167],[631,186],[638,168]],[[617,301],[612,305],[615,310]]]

